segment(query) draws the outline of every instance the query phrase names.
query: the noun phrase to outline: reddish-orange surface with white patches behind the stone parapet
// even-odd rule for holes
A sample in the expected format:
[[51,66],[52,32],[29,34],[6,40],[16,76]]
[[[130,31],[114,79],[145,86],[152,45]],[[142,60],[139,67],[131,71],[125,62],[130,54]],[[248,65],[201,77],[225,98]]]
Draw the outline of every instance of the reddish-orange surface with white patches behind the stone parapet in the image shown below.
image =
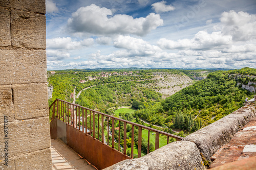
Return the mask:
[[[212,169],[256,169],[256,118],[250,119],[212,157]],[[231,163],[232,162],[232,163]]]

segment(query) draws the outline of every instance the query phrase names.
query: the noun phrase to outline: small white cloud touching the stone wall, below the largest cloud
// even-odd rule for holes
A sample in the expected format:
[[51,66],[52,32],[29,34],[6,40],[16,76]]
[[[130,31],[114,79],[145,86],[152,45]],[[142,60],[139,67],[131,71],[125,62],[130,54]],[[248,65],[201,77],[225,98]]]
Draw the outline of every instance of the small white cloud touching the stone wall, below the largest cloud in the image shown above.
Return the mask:
[[47,48],[50,49],[75,50],[83,46],[91,46],[93,43],[93,38],[83,39],[81,41],[73,41],[71,37],[46,39]]

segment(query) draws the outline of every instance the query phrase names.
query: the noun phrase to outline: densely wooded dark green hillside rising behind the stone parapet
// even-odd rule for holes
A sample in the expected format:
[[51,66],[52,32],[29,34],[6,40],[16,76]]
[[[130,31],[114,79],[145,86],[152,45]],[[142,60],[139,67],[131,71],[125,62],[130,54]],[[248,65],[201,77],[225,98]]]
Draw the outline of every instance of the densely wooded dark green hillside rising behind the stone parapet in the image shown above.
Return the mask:
[[207,79],[183,88],[161,104],[141,104],[143,109],[135,115],[162,127],[196,131],[242,107],[246,98],[253,98],[252,92],[241,87],[254,82],[255,73],[251,68],[211,72]]

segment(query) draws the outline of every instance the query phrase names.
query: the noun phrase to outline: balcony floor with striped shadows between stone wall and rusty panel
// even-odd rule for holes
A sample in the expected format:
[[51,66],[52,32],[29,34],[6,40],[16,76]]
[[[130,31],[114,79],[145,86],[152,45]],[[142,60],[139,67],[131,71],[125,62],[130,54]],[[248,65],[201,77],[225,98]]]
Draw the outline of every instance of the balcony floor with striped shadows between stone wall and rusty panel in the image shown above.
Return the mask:
[[52,166],[57,169],[95,170],[96,168],[81,158],[74,150],[60,139],[51,139]]

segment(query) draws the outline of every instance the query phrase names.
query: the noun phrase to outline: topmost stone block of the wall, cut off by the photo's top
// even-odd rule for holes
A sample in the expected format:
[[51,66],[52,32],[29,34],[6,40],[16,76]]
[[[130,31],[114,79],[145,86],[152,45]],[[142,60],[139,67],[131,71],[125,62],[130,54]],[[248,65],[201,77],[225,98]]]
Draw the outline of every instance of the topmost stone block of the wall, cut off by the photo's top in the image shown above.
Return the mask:
[[0,0],[0,6],[20,9],[23,11],[32,11],[45,14],[46,12],[45,0]]

